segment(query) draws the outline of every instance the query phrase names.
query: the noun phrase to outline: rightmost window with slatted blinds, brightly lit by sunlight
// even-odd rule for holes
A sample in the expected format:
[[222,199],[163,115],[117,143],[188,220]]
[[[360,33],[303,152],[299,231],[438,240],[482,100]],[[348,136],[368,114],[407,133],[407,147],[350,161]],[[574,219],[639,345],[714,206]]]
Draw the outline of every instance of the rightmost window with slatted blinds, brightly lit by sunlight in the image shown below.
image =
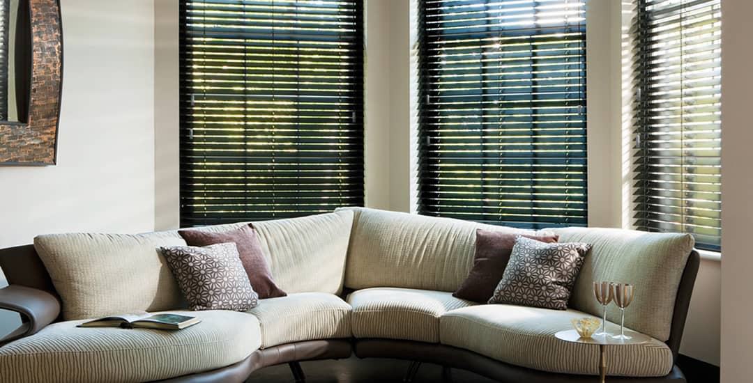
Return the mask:
[[720,0],[636,0],[635,224],[721,246]]

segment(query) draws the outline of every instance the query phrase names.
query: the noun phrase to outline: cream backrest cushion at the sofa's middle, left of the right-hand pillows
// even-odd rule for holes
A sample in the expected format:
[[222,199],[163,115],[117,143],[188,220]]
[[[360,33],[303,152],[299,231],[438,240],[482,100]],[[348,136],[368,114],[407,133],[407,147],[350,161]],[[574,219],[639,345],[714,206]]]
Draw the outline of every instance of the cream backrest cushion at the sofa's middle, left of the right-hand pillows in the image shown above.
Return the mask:
[[531,230],[370,208],[355,211],[345,286],[455,291],[468,277],[476,229],[535,235]]

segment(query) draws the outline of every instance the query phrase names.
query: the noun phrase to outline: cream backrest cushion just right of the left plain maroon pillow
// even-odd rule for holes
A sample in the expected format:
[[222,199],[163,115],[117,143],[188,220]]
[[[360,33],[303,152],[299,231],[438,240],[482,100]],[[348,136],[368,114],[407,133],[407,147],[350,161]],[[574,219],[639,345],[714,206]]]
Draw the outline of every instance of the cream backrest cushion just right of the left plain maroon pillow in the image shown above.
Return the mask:
[[[249,222],[196,228],[221,233]],[[275,283],[286,293],[343,290],[353,212],[250,222],[261,242]]]

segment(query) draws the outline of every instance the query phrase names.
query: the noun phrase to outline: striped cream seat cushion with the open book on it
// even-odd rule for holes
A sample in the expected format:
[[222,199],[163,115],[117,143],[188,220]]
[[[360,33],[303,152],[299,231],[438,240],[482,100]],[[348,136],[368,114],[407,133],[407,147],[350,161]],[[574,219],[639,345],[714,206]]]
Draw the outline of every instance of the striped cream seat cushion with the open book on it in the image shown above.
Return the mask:
[[261,345],[244,312],[176,312],[202,322],[180,331],[51,324],[0,348],[0,382],[155,381],[229,366]]

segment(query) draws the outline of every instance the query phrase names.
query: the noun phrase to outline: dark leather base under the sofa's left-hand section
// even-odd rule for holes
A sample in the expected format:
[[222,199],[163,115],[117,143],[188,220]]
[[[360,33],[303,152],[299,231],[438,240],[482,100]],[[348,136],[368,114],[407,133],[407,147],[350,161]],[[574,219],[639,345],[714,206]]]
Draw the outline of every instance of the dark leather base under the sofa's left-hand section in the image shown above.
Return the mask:
[[277,364],[306,360],[345,359],[352,354],[350,339],[312,340],[288,343],[255,351],[233,365],[197,374],[178,376],[161,383],[242,383],[252,372]]

